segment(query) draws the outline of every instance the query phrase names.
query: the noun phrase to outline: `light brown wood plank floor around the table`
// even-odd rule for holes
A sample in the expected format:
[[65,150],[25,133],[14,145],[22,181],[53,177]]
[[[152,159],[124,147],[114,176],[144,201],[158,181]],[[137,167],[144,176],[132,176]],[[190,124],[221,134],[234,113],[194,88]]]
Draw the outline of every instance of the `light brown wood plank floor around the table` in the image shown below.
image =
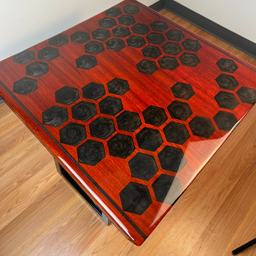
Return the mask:
[[[256,66],[172,13],[162,14]],[[256,106],[137,247],[105,226],[56,171],[36,137],[0,104],[0,256],[226,256],[256,237]],[[256,246],[241,256],[255,256]]]

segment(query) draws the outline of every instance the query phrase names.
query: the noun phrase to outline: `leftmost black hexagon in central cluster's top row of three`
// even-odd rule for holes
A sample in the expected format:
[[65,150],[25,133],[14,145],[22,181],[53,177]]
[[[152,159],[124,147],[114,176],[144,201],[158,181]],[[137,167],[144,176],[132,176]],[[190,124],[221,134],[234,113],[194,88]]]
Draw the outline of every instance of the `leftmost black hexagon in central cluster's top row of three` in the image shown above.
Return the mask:
[[77,88],[64,86],[55,92],[55,100],[57,103],[70,105],[79,99],[79,92]]

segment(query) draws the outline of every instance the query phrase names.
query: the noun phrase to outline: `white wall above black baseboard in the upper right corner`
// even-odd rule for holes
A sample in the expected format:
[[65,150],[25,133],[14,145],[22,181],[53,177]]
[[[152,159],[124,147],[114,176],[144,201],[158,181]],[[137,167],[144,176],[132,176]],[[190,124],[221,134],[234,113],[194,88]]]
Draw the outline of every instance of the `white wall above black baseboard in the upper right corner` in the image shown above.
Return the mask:
[[176,0],[256,43],[256,0]]

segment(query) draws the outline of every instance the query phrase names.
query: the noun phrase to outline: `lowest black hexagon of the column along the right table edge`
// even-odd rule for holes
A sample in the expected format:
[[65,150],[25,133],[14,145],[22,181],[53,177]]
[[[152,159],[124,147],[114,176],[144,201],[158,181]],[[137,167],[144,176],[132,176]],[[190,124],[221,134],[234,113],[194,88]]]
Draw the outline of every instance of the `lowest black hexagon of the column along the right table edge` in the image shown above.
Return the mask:
[[233,113],[221,110],[213,117],[213,119],[220,130],[227,132],[238,123],[238,120]]

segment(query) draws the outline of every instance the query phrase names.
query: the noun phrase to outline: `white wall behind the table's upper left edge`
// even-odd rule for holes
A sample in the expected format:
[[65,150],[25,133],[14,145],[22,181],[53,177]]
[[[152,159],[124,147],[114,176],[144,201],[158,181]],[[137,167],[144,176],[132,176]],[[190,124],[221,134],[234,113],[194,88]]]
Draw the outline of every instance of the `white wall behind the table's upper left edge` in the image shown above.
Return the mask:
[[[121,0],[0,0],[0,61]],[[140,0],[149,6],[157,0]]]

